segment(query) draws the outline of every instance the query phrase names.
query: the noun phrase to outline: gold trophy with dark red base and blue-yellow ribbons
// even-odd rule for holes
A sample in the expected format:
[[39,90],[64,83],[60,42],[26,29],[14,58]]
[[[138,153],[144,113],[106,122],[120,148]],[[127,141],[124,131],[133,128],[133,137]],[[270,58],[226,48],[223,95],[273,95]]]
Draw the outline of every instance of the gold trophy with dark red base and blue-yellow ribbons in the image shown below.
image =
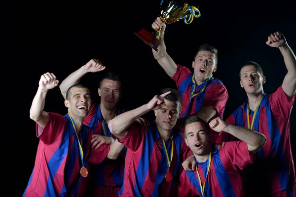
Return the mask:
[[[164,23],[171,24],[184,19],[185,24],[190,24],[193,17],[198,18],[200,16],[198,8],[189,6],[184,0],[161,0],[159,17]],[[157,29],[152,33],[142,29],[135,34],[157,51],[160,44],[161,29]]]

